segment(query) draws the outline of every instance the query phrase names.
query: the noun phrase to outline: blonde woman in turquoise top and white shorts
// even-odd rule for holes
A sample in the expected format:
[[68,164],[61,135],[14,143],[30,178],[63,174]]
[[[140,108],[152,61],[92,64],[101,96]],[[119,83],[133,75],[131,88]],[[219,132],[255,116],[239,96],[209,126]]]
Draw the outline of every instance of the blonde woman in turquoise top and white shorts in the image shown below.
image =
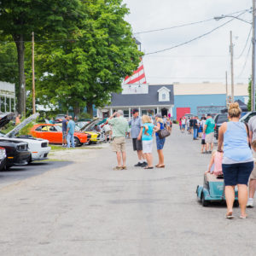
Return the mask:
[[143,115],[143,154],[145,154],[148,166],[145,166],[144,169],[153,169],[153,131],[154,125],[151,122],[151,119],[148,115]]

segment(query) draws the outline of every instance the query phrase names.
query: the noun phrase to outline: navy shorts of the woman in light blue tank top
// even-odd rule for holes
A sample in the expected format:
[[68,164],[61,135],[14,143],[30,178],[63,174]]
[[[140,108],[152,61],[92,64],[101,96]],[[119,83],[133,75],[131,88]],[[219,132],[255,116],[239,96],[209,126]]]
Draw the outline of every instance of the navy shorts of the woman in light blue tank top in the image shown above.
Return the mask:
[[253,171],[253,161],[231,165],[222,165],[225,186],[236,186],[237,184],[247,185],[251,172]]

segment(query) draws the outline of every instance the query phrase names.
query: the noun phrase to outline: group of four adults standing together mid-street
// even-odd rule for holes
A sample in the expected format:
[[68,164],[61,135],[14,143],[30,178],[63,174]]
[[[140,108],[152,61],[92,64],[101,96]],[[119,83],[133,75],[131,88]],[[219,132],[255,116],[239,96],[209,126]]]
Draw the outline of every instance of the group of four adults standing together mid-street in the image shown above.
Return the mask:
[[[164,116],[162,118],[160,113],[155,114],[154,119],[148,115],[139,116],[138,109],[133,109],[132,118],[128,122],[124,117],[122,110],[118,110],[108,119],[108,125],[112,127],[112,148],[116,153],[117,166],[113,170],[126,170],[126,150],[125,137],[130,132],[132,147],[137,151],[138,162],[136,167],[143,167],[144,169],[165,168],[163,148],[166,142],[166,137],[172,131],[172,121],[170,117]],[[165,135],[161,131],[166,131]],[[155,135],[156,148],[158,153],[158,164],[153,164],[153,137]]]

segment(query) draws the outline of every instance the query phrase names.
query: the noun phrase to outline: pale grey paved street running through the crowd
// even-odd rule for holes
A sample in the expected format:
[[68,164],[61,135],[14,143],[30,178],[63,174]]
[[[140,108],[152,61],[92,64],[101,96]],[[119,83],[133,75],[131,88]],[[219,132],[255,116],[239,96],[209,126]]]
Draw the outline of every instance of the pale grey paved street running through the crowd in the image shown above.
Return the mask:
[[110,148],[74,150],[72,164],[2,186],[0,255],[255,255],[256,209],[227,220],[196,201],[200,143],[175,125],[166,169],[133,167],[129,141],[127,171],[112,171]]

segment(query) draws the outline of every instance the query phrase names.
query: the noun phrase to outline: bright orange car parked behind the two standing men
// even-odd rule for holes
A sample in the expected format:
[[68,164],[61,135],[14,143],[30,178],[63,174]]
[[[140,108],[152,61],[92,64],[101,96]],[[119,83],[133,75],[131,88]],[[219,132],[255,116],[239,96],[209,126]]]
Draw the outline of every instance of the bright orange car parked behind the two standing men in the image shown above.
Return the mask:
[[[49,140],[49,143],[62,144],[62,129],[60,125],[40,124],[34,125],[31,129],[33,137]],[[75,131],[73,134],[75,146],[90,142],[90,135],[84,132]]]

